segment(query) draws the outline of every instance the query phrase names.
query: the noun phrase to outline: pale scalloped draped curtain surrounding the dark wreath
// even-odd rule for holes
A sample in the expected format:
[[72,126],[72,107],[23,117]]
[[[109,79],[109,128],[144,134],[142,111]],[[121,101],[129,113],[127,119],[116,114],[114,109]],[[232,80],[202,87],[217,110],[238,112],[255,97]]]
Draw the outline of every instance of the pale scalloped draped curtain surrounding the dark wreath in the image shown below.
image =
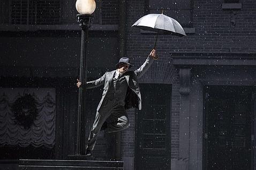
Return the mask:
[[[28,129],[16,123],[13,103],[24,94],[36,100],[37,116]],[[0,146],[32,145],[53,148],[56,130],[56,91],[52,88],[0,88]]]

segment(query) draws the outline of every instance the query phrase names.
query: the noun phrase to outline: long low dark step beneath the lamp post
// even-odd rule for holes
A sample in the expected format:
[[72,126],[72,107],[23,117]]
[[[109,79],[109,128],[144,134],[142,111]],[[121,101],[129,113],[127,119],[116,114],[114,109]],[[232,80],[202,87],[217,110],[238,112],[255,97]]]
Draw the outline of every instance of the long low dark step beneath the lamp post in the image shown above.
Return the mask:
[[19,170],[124,169],[123,161],[20,159]]

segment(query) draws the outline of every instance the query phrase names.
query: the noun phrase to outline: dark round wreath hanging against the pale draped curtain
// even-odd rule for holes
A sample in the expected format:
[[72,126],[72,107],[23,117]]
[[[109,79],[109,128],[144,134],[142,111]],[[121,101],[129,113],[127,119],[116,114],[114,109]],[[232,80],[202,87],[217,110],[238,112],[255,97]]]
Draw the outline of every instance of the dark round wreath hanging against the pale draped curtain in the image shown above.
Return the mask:
[[37,116],[36,100],[31,94],[25,94],[16,99],[12,105],[12,112],[18,125],[29,129]]

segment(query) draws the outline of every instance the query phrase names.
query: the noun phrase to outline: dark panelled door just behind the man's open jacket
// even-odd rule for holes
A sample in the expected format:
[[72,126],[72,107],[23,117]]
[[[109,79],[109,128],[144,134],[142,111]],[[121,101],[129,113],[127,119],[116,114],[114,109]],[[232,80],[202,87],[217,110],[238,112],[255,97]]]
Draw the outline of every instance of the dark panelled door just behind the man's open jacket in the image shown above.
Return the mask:
[[135,169],[170,169],[171,85],[141,84],[136,119]]

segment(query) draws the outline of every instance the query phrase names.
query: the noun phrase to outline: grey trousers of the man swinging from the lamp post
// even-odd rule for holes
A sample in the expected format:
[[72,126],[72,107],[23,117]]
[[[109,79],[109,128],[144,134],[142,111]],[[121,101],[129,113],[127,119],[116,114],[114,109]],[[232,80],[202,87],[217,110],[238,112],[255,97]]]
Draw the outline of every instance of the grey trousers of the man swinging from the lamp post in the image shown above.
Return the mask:
[[93,127],[89,134],[88,143],[86,149],[93,150],[96,144],[97,136],[100,133],[103,123],[110,117],[110,122],[107,124],[107,132],[118,132],[128,128],[129,119],[126,114],[123,103],[117,102],[116,99],[107,99],[106,105],[103,106],[100,112],[96,112]]

